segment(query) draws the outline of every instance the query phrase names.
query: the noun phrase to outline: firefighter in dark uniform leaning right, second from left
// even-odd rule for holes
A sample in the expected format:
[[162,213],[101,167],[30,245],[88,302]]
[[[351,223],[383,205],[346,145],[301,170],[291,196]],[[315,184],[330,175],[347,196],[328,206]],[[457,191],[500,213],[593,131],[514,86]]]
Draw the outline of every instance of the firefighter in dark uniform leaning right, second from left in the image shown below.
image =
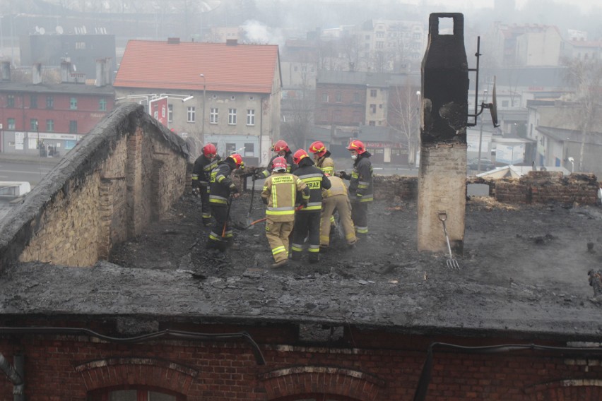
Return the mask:
[[219,249],[223,252],[234,244],[232,229],[228,225],[228,214],[232,199],[237,197],[239,192],[236,184],[230,179],[230,174],[235,169],[244,169],[242,156],[238,153],[226,157],[225,160],[218,163],[218,167],[211,171],[209,204],[216,223],[209,233],[208,249]]

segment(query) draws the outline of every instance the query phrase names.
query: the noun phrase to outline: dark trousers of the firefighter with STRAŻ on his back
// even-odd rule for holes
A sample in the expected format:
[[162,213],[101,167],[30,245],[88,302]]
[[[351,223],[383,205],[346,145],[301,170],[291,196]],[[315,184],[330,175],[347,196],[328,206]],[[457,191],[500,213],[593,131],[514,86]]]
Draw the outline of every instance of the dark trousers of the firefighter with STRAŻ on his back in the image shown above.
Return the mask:
[[[329,222],[330,224],[330,222]],[[309,251],[309,261],[317,262],[320,252],[320,211],[295,213],[295,230],[293,231],[293,244],[290,247],[291,258],[293,261],[301,259],[303,252],[303,243],[308,239],[307,251]]]

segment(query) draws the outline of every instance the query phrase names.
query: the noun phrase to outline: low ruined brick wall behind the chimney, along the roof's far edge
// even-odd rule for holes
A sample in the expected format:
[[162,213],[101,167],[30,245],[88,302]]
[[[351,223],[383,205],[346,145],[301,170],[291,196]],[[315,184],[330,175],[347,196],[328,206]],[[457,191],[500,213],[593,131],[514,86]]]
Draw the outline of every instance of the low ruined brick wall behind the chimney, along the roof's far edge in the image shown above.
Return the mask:
[[[490,193],[505,203],[579,203],[596,205],[598,188],[602,186],[594,174],[573,173],[562,176],[561,172],[529,172],[519,179],[483,179],[470,177],[466,184],[484,184]],[[418,177],[374,176],[374,198],[391,200],[418,199]]]

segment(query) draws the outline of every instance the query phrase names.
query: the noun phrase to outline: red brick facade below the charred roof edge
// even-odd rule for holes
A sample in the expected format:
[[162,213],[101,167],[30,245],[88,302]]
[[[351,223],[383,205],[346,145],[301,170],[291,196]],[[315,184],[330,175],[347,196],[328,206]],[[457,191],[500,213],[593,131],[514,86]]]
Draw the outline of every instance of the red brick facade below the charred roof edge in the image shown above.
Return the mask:
[[[196,333],[229,329],[191,328]],[[318,395],[329,395],[328,400],[395,401],[412,399],[427,357],[426,341],[454,342],[450,337],[424,339],[373,330],[352,335],[346,330],[342,342],[295,345],[294,339],[273,342],[288,337],[278,328],[248,329],[265,365],[256,364],[250,347],[236,341],[116,344],[86,335],[5,335],[0,349],[8,361],[16,353],[24,355],[25,397],[30,401],[100,400],[94,396],[126,386],[147,386],[184,395],[188,401],[305,400]],[[502,343],[495,338],[455,341]],[[567,358],[547,351],[471,354],[435,349],[426,400],[593,401],[602,395],[601,375],[599,355]],[[11,399],[11,383],[0,380],[0,400]]]

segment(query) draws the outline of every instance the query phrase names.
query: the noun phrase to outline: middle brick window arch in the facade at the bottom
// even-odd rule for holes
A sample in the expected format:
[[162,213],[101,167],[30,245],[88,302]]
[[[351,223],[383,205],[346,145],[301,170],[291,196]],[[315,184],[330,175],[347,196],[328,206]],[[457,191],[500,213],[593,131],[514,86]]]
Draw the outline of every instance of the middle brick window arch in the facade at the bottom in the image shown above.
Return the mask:
[[331,366],[294,366],[259,376],[271,401],[375,401],[384,381]]

